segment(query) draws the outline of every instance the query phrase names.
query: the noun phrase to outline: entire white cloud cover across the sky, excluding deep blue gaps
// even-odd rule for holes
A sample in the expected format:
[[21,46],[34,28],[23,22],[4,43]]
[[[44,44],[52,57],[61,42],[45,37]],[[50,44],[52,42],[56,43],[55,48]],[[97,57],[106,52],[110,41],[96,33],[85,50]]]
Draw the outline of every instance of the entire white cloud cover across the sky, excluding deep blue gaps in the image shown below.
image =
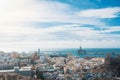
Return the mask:
[[[105,8],[113,13],[107,17],[115,17],[115,8]],[[97,12],[104,9],[96,9]],[[87,11],[87,10],[86,10]],[[90,10],[91,11],[91,10]],[[93,10],[92,10],[93,11]],[[116,12],[115,12],[116,11]],[[82,11],[84,12],[84,11]],[[76,9],[65,3],[48,0],[1,0],[0,1],[0,47],[3,50],[32,50],[36,48],[70,48],[79,47],[118,47],[119,35],[106,34],[118,31],[117,27],[106,30],[94,30],[85,25],[106,26],[98,17],[105,18],[106,13],[79,15]],[[81,14],[81,12],[79,13]],[[97,17],[97,18],[96,18]],[[32,23],[38,23],[36,25]],[[48,25],[43,27],[44,23]],[[52,25],[49,23],[60,23]],[[70,23],[70,24],[65,24]],[[119,26],[118,26],[119,28]],[[107,42],[109,40],[109,42]],[[113,44],[117,41],[118,44]],[[57,46],[56,46],[57,45]],[[72,46],[71,46],[72,45]]]

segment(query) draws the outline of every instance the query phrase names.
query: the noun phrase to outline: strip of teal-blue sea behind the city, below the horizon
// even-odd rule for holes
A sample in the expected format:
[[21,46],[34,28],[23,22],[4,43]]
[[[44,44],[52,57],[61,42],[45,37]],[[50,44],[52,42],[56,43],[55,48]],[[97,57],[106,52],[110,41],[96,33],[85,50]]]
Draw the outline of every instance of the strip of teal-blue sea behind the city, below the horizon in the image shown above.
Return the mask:
[[78,54],[79,48],[60,48],[60,49],[46,49],[42,50],[43,54],[50,55],[67,55],[71,54],[75,57],[102,57],[105,58],[107,55],[111,57],[120,56],[120,48],[84,48],[82,50],[86,51],[86,54]]

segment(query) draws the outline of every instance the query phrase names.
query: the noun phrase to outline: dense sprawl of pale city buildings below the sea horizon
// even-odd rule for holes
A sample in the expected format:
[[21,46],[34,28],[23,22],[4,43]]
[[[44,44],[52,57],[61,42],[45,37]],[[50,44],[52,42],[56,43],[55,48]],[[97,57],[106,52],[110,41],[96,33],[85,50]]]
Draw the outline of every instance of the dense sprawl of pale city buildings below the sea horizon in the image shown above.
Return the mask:
[[82,47],[76,51],[79,56],[70,52],[53,52],[55,54],[40,49],[29,53],[0,51],[0,80],[120,79],[120,54],[107,53],[104,57],[94,57],[99,54],[95,53],[88,56],[90,53],[85,53]]

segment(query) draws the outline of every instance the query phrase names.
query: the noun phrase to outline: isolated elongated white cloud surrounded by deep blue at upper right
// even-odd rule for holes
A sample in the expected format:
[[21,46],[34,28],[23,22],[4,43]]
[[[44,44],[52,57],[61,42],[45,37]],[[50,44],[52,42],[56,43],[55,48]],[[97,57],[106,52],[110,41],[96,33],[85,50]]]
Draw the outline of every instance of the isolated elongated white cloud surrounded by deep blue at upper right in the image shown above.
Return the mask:
[[95,18],[115,18],[120,13],[120,7],[109,7],[101,9],[88,9],[77,13],[81,17],[95,17]]

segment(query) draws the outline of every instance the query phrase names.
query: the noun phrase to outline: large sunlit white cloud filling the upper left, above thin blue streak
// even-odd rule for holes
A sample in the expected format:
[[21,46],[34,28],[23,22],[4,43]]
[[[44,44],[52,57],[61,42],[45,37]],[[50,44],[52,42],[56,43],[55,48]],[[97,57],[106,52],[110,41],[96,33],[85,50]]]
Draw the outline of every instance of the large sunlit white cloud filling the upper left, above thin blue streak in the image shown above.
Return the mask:
[[0,1],[0,22],[0,24],[23,24],[23,22],[102,24],[96,18],[77,16],[76,8],[69,4],[43,0]]

